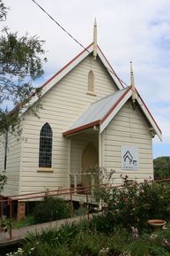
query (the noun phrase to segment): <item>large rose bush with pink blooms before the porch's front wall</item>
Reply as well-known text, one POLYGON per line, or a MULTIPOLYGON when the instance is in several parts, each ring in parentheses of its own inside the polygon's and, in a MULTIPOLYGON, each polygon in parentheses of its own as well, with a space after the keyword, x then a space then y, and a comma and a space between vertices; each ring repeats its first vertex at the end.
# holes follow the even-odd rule
POLYGON ((123 178, 121 188, 102 188, 95 192, 96 199, 107 205, 106 218, 111 225, 124 228, 146 228, 149 219, 170 219, 170 186, 123 178))

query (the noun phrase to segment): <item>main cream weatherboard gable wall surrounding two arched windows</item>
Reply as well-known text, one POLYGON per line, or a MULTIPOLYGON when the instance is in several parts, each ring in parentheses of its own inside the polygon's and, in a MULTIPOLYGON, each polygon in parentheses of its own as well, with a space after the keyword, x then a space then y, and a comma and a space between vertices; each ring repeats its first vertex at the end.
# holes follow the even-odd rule
MULTIPOLYGON (((61 81, 41 97, 40 119, 25 113, 23 121, 20 193, 56 189, 69 185, 69 139, 63 131, 78 119, 92 102, 117 90, 100 60, 88 56, 61 81), (95 75, 95 96, 87 95, 88 73, 95 75), (48 122, 53 130, 53 172, 39 172, 39 143, 41 127, 48 122)), ((77 167, 76 167, 77 168, 77 167)), ((77 171, 77 169, 75 170, 77 171)))

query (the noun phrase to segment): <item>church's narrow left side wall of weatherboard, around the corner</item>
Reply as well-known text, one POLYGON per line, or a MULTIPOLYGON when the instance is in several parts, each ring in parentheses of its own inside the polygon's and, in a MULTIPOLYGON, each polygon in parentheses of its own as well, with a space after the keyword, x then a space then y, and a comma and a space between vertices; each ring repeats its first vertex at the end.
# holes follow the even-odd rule
POLYGON ((7 184, 4 185, 4 196, 18 195, 19 192, 19 169, 21 159, 21 139, 18 140, 18 135, 8 135, 7 148, 7 165, 4 171, 4 143, 0 148, 0 174, 8 177, 7 184))

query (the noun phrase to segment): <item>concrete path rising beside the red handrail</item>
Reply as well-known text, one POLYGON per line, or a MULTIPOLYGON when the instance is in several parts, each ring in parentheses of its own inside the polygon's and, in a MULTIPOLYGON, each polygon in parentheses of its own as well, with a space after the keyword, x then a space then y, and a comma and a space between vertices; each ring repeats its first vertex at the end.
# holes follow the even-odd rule
MULTIPOLYGON (((90 218, 92 218, 92 214, 90 214, 90 218)), ((37 224, 33 226, 28 226, 28 227, 22 227, 18 229, 12 229, 12 239, 10 240, 10 234, 0 232, 0 247, 4 247, 7 245, 11 244, 18 244, 19 242, 23 241, 28 232, 35 233, 39 232, 41 233, 42 229, 49 229, 49 228, 56 228, 59 229, 61 225, 64 223, 78 223, 81 220, 87 219, 87 215, 84 216, 78 216, 74 217, 71 219, 66 219, 66 220, 60 220, 60 221, 51 221, 51 222, 46 222, 42 224, 37 224)))

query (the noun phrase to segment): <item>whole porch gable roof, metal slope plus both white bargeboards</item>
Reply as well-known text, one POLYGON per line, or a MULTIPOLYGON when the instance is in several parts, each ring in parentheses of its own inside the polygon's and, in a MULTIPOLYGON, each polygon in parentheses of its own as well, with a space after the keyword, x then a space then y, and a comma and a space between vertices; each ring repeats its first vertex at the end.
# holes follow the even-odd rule
MULTIPOLYGON (((108 123, 113 120, 116 113, 119 112, 131 96, 132 89, 129 87, 126 89, 120 89, 107 97, 101 98, 90 105, 78 120, 76 120, 67 131, 63 132, 63 136, 70 136, 83 131, 86 128, 92 128, 93 126, 98 125, 100 126, 100 133, 102 133, 103 130, 107 128, 108 123)), ((144 116, 161 140, 161 131, 139 95, 137 97, 137 102, 139 107, 141 107, 141 110, 144 112, 144 116)))

